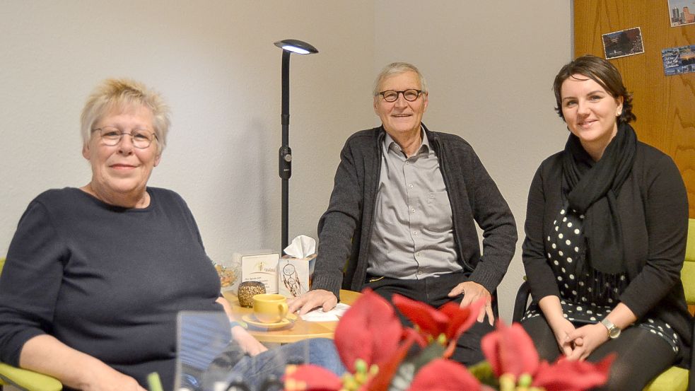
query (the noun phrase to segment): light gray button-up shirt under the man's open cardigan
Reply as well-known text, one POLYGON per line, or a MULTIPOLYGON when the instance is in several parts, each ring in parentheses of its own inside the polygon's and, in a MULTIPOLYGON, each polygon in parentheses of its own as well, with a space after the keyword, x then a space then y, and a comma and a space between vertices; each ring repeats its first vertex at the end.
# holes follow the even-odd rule
POLYGON ((421 135, 410 158, 385 136, 368 274, 422 279, 462 269, 439 161, 425 132, 421 135))

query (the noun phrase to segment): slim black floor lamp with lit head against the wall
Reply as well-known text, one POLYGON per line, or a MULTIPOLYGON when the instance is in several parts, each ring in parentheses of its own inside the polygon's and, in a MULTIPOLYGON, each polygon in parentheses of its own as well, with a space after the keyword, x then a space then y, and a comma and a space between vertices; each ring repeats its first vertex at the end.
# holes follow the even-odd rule
POLYGON ((289 146, 290 133, 290 54, 314 54, 319 51, 300 40, 281 40, 275 46, 282 49, 282 145, 278 151, 278 173, 282 180, 282 212, 281 212, 281 250, 287 247, 289 184, 292 176, 292 150, 289 146))

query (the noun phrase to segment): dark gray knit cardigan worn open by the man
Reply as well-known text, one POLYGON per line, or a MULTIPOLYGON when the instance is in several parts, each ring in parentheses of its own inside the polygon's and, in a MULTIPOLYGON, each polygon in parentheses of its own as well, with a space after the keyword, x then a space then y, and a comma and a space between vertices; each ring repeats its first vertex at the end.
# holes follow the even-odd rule
MULTIPOLYGON (((423 128, 449 195, 458 262, 470 281, 492 293, 514 255, 514 217, 470 144, 453 134, 430 132, 424 124, 423 128), (484 231, 482 256, 475 223, 484 231)), ((357 132, 340 153, 328 210, 319 221, 312 289, 338 296, 341 286, 360 291, 366 281, 385 134, 383 127, 357 132)))

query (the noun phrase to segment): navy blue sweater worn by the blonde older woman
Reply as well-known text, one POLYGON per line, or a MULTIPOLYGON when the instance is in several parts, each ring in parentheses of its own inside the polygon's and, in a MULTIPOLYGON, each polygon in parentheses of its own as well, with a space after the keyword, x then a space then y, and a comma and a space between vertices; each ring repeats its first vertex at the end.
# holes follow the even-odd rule
POLYGON ((80 189, 40 194, 23 214, 0 276, 0 361, 51 334, 146 385, 173 387, 176 315, 221 310, 219 279, 183 199, 149 187, 144 209, 80 189))

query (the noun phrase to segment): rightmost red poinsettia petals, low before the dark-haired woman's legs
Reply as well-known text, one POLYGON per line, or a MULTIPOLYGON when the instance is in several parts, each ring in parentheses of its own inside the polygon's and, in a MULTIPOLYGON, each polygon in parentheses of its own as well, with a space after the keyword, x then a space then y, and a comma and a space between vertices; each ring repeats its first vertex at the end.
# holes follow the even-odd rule
POLYGON ((533 375, 532 385, 544 387, 546 391, 589 390, 606 383, 614 358, 614 354, 609 354, 598 363, 590 363, 561 357, 553 365, 544 361, 533 375))

